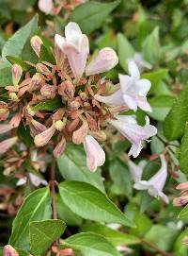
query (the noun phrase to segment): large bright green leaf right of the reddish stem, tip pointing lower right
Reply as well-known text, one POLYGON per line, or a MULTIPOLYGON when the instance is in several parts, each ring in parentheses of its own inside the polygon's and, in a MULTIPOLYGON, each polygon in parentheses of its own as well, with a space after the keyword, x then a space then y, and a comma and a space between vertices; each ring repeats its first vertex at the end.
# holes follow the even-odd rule
POLYGON ((64 181, 59 185, 59 193, 71 211, 83 218, 133 226, 133 223, 107 196, 87 183, 64 181))

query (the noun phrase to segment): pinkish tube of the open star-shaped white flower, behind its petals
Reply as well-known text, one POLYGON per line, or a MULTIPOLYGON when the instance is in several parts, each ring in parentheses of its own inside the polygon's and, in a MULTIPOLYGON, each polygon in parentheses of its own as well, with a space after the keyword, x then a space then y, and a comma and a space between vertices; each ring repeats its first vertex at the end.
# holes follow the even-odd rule
POLYGON ((111 94, 109 96, 102 96, 102 95, 96 94, 95 99, 110 106, 124 105, 124 100, 122 98, 121 90, 118 90, 116 93, 111 94))

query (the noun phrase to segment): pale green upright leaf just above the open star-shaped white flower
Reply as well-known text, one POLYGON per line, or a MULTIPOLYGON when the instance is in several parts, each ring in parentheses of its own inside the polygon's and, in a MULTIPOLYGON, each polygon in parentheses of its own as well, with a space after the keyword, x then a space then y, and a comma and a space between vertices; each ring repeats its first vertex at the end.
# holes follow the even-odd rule
POLYGON ((118 33, 118 60, 121 67, 127 72, 127 60, 133 57, 133 54, 135 53, 135 50, 133 49, 133 46, 129 41, 126 39, 126 37, 118 33))

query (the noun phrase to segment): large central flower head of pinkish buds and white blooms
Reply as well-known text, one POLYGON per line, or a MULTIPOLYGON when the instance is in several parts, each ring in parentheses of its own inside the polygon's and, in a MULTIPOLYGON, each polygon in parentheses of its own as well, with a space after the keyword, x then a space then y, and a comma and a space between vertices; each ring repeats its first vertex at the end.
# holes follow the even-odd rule
MULTIPOLYGON (((40 56, 42 41, 39 36, 31 39, 31 46, 40 56)), ((84 145, 86 164, 95 171, 105 161, 105 154, 99 142, 106 140, 106 129, 118 129, 132 144, 129 155, 137 157, 143 141, 156 134, 157 129, 149 125, 141 127, 135 115, 125 111, 140 108, 151 111, 147 101, 150 88, 148 79, 141 79, 140 72, 133 60, 128 63, 129 74, 119 75, 119 83, 105 79, 100 74, 118 64, 116 52, 103 48, 91 60, 88 38, 75 23, 65 27, 65 37, 55 35, 55 64, 42 61, 35 67, 36 73, 23 72, 18 64, 12 67, 13 85, 8 86, 9 102, 1 102, 0 133, 16 134, 21 120, 30 129, 36 146, 52 146, 55 158, 63 154, 66 143, 84 145), (41 102, 57 100, 60 105, 55 111, 39 111, 41 102), (13 117, 9 120, 9 111, 13 117), (123 114, 120 114, 122 113, 123 114)), ((28 64, 28 62, 27 62, 28 64)), ((0 153, 8 151, 16 144, 13 136, 0 143, 0 153)))

